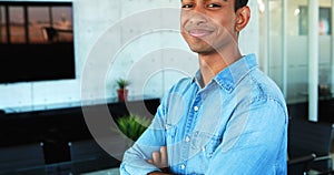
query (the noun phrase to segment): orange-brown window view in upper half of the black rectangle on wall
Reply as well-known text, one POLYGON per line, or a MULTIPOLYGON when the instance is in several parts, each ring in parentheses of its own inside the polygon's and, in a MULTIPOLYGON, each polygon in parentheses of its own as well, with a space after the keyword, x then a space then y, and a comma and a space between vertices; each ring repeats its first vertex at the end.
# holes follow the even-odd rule
POLYGON ((0 6, 0 43, 7 42, 73 42, 71 6, 35 2, 0 6))

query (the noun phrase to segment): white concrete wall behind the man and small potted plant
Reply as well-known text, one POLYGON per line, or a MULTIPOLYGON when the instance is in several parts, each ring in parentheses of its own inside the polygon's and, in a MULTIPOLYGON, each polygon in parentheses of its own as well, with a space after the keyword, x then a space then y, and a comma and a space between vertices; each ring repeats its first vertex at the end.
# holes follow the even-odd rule
MULTIPOLYGON (((21 112, 75 106, 81 100, 100 103, 116 99, 118 78, 131 81, 129 99, 160 97, 198 69, 178 32, 179 0, 72 2, 77 79, 0 84, 0 109, 21 112)), ((258 52, 257 4, 249 6, 252 21, 240 37, 245 54, 258 52)))

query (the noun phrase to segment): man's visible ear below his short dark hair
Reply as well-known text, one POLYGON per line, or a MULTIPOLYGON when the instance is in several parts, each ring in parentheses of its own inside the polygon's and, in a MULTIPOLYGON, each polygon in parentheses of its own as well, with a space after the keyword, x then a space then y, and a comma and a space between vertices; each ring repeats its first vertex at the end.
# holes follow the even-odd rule
POLYGON ((235 30, 238 32, 242 31, 249 22, 249 18, 250 18, 249 7, 245 6, 243 8, 239 8, 236 11, 235 30))

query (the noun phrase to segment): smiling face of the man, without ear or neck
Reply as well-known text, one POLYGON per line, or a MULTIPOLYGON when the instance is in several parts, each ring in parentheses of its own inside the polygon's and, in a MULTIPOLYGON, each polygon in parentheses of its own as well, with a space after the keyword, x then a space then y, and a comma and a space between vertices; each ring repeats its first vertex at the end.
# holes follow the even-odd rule
POLYGON ((222 51, 237 40, 235 0, 183 0, 180 30, 197 53, 222 51))

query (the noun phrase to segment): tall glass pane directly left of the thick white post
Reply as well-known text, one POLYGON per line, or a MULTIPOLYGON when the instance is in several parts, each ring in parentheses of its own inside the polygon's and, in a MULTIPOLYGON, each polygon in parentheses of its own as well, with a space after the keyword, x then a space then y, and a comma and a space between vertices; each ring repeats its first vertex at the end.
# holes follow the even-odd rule
MULTIPOLYGON (((299 33, 308 30, 305 24, 307 0, 287 1, 287 102, 308 101, 308 37, 299 33)), ((307 20, 306 20, 307 22, 307 20)))

